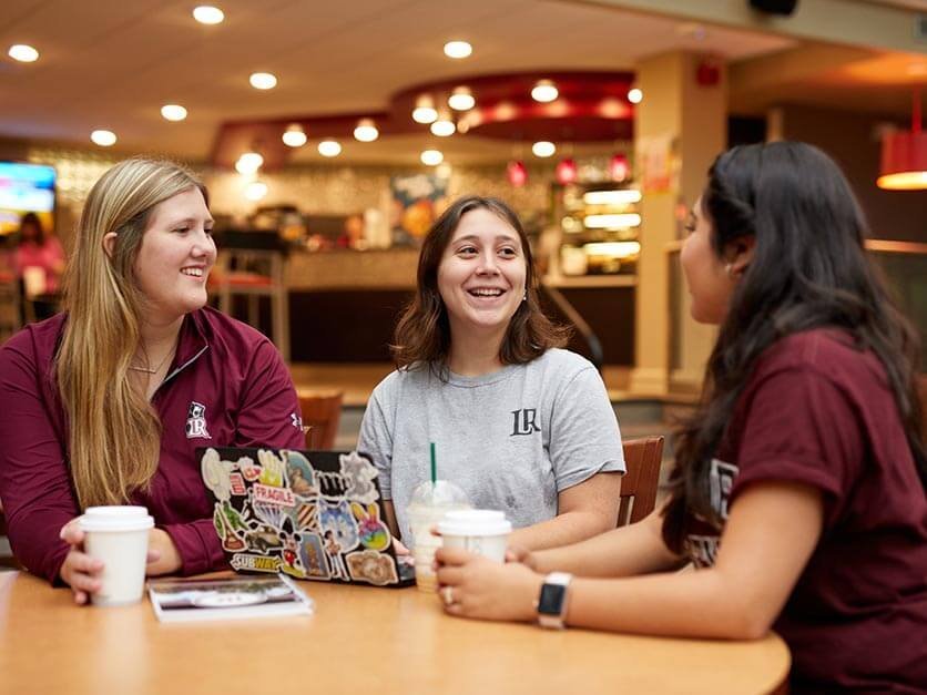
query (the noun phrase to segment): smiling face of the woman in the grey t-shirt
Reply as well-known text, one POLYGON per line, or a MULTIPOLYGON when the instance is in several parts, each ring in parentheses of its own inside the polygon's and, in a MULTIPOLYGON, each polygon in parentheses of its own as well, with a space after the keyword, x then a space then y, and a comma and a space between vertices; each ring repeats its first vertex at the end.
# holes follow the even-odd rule
POLYGON ((524 296, 527 265, 518 232, 483 207, 460 217, 438 266, 451 337, 505 333, 524 296))

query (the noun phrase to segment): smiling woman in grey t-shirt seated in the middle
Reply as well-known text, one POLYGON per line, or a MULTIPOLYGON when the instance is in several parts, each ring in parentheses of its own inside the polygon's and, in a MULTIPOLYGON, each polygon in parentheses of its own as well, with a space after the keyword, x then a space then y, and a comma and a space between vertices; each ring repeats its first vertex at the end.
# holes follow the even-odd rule
POLYGON ((624 471, 602 379, 560 348, 543 315, 528 238, 501 201, 464 197, 435 223, 418 288, 396 328, 398 370, 375 389, 358 449, 378 467, 394 534, 438 473, 481 509, 503 510, 513 542, 551 548, 613 528, 624 471))

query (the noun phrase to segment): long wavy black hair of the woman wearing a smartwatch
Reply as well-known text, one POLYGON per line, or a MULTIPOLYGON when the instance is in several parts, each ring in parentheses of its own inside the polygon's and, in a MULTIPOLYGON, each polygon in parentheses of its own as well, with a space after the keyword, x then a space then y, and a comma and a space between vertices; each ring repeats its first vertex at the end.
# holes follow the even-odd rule
POLYGON ((764 350, 813 328, 839 329, 878 357, 924 483, 918 336, 866 254, 866 221, 839 167, 805 143, 734 147, 709 172, 702 213, 719 258, 744 237, 756 244, 709 357, 701 405, 676 437, 666 545, 682 552, 690 514, 720 525, 707 471, 737 399, 764 350))

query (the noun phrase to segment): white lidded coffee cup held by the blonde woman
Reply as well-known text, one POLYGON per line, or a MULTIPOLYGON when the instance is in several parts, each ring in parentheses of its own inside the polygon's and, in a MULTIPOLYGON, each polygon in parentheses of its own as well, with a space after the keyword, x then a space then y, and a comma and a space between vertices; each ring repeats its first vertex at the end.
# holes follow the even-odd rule
POLYGON ((141 601, 145 587, 149 531, 154 519, 144 507, 88 507, 80 518, 84 552, 103 562, 94 605, 141 601))

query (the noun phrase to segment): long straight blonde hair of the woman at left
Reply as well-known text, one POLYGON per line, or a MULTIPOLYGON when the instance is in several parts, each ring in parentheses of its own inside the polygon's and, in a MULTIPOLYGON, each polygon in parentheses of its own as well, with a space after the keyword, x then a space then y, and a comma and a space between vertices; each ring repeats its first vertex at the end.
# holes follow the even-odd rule
POLYGON ((161 421, 129 381, 145 303, 134 264, 152 209, 194 186, 205 197, 182 166, 132 159, 106 171, 84 204, 64 276, 68 320, 55 365, 81 509, 125 503, 157 470, 161 421), (118 236, 108 254, 110 232, 118 236))

